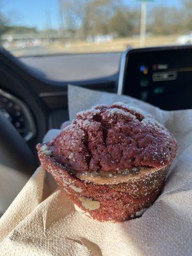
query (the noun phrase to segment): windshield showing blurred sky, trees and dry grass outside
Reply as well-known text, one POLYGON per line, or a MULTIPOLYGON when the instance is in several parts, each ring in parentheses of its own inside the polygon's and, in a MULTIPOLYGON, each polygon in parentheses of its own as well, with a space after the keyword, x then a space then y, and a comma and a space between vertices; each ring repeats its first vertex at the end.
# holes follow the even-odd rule
POLYGON ((0 43, 15 56, 191 44, 191 12, 191 0, 0 0, 0 43))

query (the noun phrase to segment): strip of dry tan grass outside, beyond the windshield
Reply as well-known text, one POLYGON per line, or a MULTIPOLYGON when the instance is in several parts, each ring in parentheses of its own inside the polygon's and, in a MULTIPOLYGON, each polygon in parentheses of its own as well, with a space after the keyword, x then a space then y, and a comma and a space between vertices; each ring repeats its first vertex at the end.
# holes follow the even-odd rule
MULTIPOLYGON (((177 44, 178 35, 172 36, 148 36, 145 47, 177 44)), ((15 56, 35 56, 49 54, 80 54, 90 52, 122 52, 129 47, 140 47, 139 38, 116 38, 111 42, 90 43, 80 40, 65 40, 63 42, 42 43, 40 47, 19 48, 10 47, 9 51, 15 56)))

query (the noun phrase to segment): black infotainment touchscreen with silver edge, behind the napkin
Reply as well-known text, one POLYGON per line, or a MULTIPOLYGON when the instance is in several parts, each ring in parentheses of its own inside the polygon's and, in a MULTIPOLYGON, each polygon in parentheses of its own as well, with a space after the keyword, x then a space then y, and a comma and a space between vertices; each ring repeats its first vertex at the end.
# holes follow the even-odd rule
POLYGON ((192 108, 192 47, 155 47, 125 52, 118 93, 162 109, 192 108))

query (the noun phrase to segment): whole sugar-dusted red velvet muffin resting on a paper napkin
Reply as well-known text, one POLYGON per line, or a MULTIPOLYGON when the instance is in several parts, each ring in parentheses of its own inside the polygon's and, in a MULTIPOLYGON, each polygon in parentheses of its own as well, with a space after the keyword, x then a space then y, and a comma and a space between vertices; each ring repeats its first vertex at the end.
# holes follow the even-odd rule
POLYGON ((71 125, 37 149, 43 168, 77 209, 95 220, 124 221, 156 200, 177 141, 151 116, 115 103, 77 113, 71 125))

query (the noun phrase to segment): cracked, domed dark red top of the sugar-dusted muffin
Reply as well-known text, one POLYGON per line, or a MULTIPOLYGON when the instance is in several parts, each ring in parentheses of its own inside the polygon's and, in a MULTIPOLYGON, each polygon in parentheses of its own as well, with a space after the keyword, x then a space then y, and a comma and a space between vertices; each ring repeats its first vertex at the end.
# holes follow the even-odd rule
POLYGON ((75 172, 160 168, 177 152, 177 141, 163 125, 121 102, 77 113, 47 145, 58 163, 75 172))

